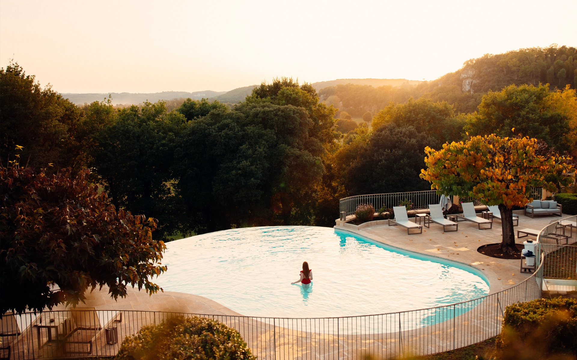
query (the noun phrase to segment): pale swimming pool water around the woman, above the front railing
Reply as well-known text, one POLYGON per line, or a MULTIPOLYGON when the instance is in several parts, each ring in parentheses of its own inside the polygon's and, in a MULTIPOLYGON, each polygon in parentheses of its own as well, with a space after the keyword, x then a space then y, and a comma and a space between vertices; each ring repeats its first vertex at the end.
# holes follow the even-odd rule
POLYGON ((315 226, 266 226, 167 243, 153 281, 247 316, 332 317, 454 304, 489 293, 473 268, 315 226), (299 279, 302 262, 313 272, 299 279))

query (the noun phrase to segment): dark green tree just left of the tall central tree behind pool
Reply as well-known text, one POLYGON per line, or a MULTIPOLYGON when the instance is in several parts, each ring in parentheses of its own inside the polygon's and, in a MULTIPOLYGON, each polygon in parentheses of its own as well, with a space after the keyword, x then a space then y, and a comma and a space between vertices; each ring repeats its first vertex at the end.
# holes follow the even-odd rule
POLYGON ((181 113, 167 113, 162 101, 147 102, 120 109, 117 120, 95 137, 94 166, 104 189, 119 208, 158 219, 155 237, 162 240, 187 231, 171 174, 175 144, 185 127, 181 113))

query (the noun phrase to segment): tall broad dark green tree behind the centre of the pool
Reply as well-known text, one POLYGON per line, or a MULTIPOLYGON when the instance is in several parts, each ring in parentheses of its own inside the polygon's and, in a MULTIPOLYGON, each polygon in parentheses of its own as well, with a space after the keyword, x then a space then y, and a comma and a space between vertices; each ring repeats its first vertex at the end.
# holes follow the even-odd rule
POLYGON ((310 225, 325 152, 311 134, 318 133, 305 108, 267 101, 188 123, 176 151, 175 186, 197 232, 310 225))

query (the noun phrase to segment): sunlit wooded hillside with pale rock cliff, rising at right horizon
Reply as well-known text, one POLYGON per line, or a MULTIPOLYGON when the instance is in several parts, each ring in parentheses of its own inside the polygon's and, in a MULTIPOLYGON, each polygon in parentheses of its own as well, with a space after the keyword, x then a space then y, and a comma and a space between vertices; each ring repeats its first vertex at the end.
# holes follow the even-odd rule
MULTIPOLYGON (((353 117, 365 112, 374 115, 390 101, 404 103, 411 96, 426 97, 433 101, 447 101, 457 112, 477 111, 481 98, 489 90, 500 91, 512 84, 549 84, 550 88, 564 88, 577 82, 577 57, 575 47, 557 46, 548 48, 526 48, 486 54, 470 59, 454 73, 448 73, 433 81, 417 85, 392 84, 374 86, 347 83, 325 86, 319 90, 322 101, 332 104, 339 111, 346 111, 353 117)), ((366 79, 369 80, 369 79, 366 79)), ((345 80, 343 80, 345 81, 345 80)), ((316 84, 331 84, 325 81, 316 84)), ((313 84, 314 85, 314 84, 313 84)))

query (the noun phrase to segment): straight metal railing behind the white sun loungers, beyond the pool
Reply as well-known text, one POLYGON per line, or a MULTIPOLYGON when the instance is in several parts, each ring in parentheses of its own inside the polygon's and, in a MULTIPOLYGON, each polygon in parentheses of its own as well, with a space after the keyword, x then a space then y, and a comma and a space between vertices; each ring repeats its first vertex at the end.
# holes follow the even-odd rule
MULTIPOLYGON (((531 188, 531 196, 534 199, 541 199, 543 188, 531 188)), ((449 196, 453 199, 453 196, 449 196)), ((343 211, 348 215, 352 215, 357 210, 359 204, 372 204, 374 210, 377 211, 381 207, 385 209, 392 209, 393 206, 398 206, 400 202, 409 200, 413 204, 413 209, 429 209, 429 204, 438 204, 441 201, 441 195, 437 195, 436 190, 427 191, 409 191, 409 192, 391 192, 388 194, 370 194, 370 195, 355 195, 339 200, 339 211, 343 211)), ((474 200, 475 205, 481 205, 479 199, 474 200)))

